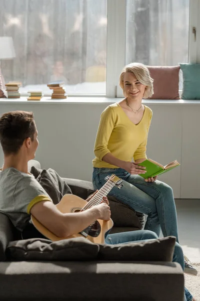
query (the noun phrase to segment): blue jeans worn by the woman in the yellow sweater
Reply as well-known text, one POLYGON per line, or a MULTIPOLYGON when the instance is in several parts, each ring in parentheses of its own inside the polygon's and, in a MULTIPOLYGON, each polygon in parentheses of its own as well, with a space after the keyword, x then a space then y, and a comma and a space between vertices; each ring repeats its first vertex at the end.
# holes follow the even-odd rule
POLYGON ((100 189, 106 182, 104 178, 112 174, 123 180, 123 187, 112 188, 109 195, 135 211, 146 214, 145 230, 153 231, 159 236, 161 229, 163 236, 175 236, 178 242, 177 216, 171 187, 157 180, 147 183, 142 177, 130 175, 121 168, 93 168, 94 188, 100 189))

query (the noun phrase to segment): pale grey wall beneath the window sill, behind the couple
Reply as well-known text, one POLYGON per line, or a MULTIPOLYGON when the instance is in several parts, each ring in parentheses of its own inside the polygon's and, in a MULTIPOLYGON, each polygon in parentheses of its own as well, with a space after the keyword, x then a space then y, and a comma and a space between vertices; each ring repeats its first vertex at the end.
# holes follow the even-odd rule
MULTIPOLYGON (((11 110, 33 111, 39 138, 35 159, 42 168, 51 167, 62 177, 90 181, 99 117, 112 100, 87 98, 86 103, 81 101, 80 98, 71 98, 65 103, 2 100, 0 114, 11 110)), ((181 102, 144 102, 153 110, 147 157, 163 165, 177 159, 181 166, 159 179, 173 188, 175 198, 200 198, 200 101, 181 102)), ((0 149, 0 164, 2 162, 0 149)))

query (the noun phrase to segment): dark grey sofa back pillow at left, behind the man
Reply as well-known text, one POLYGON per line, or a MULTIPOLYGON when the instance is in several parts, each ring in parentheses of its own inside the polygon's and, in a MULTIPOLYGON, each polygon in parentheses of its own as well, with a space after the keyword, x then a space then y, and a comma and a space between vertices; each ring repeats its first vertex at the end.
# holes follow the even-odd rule
POLYGON ((30 238, 11 241, 6 248, 8 259, 15 260, 92 260, 97 258, 99 246, 78 237, 50 241, 30 238))

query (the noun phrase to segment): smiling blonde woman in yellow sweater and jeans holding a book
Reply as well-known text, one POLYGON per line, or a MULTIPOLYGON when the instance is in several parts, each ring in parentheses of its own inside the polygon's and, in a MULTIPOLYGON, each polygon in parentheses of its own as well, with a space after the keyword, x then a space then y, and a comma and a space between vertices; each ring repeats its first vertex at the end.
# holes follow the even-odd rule
MULTIPOLYGON (((119 78, 124 99, 109 105, 101 114, 96 135, 92 182, 96 189, 105 184, 105 176, 115 174, 123 187, 113 188, 110 195, 147 215, 145 230, 158 236, 173 235, 178 242, 176 208, 173 191, 156 177, 144 180, 147 135, 152 111, 142 98, 153 94, 153 80, 147 67, 140 63, 126 65, 119 78)), ((185 272, 197 274, 185 260, 185 272)))

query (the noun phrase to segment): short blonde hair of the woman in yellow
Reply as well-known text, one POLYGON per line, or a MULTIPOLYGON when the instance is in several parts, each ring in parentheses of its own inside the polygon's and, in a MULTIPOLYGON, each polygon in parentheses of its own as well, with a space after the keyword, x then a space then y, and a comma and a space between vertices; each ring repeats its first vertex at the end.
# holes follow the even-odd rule
POLYGON ((144 86, 147 86, 145 88, 143 98, 149 98, 153 94, 153 79, 150 77, 150 73, 148 71, 148 68, 141 64, 141 63, 130 63, 123 67, 120 77, 119 77, 119 86, 123 90, 123 95, 126 97, 124 92, 124 74, 126 72, 131 72, 134 74, 136 79, 144 86))

